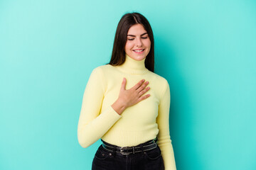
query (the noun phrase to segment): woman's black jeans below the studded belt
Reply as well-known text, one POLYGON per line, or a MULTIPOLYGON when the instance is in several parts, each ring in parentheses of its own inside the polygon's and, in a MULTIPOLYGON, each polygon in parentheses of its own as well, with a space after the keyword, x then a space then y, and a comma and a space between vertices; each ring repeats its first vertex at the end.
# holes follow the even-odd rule
MULTIPOLYGON (((111 145, 102 140, 106 145, 111 145)), ((144 142, 141 145, 146 145, 144 142)), ((139 145, 138 145, 139 146, 139 145)), ((161 150, 157 145, 156 148, 137 152, 135 154, 123 155, 118 152, 110 152, 102 145, 97 149, 92 161, 92 170, 164 170, 164 160, 161 156, 161 150)))

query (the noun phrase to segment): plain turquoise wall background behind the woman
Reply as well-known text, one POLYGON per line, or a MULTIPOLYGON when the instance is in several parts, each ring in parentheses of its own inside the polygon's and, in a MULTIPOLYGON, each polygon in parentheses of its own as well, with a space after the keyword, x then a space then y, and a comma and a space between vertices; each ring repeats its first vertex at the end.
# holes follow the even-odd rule
POLYGON ((0 1, 0 169, 91 169, 82 95, 127 12, 154 31, 177 169, 256 169, 252 0, 0 1))

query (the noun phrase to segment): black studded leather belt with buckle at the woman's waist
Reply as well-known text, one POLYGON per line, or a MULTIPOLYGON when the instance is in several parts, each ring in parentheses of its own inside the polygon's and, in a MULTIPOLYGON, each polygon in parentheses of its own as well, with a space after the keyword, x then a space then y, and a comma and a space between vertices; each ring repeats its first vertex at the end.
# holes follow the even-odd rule
POLYGON ((157 145, 156 145, 156 142, 152 140, 146 145, 137 145, 134 147, 112 147, 112 146, 106 145, 105 143, 102 143, 102 147, 104 147, 110 152, 117 152, 120 154, 135 154, 138 152, 142 152, 142 150, 147 151, 147 150, 154 149, 157 147, 157 145))

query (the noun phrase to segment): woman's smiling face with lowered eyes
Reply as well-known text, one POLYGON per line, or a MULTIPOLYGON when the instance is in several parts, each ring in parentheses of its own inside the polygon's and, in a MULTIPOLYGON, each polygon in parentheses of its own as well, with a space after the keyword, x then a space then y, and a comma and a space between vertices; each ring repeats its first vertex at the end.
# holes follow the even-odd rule
POLYGON ((143 60, 149 54, 151 41, 142 24, 129 28, 124 51, 134 60, 143 60))

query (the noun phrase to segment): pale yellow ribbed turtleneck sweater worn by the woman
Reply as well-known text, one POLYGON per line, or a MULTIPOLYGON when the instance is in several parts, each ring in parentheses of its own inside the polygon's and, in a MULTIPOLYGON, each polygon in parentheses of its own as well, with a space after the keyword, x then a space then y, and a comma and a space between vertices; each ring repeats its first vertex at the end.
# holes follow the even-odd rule
POLYGON ((137 61, 126 55, 122 65, 106 64, 92 70, 82 98, 78 142, 82 147, 89 147, 102 138, 112 145, 128 147, 153 140, 157 135, 165 169, 174 170, 176 164, 169 135, 169 83, 146 69, 145 60, 137 61), (124 77, 126 89, 142 79, 149 81, 150 89, 144 95, 150 96, 119 115, 111 105, 119 96, 124 77))

